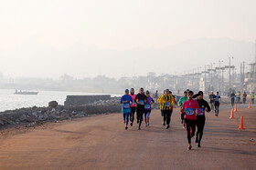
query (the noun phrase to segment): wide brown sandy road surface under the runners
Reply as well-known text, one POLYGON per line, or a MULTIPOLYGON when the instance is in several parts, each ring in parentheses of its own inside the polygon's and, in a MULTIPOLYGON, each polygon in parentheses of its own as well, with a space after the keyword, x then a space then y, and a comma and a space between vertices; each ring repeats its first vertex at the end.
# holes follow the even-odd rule
POLYGON ((0 135, 0 169, 255 169, 256 107, 239 107, 233 120, 227 106, 222 108, 218 117, 207 115, 202 147, 193 138, 191 151, 177 109, 168 130, 159 110, 141 131, 137 125, 125 131, 122 114, 6 129, 0 135), (240 115, 246 130, 238 129, 240 115))

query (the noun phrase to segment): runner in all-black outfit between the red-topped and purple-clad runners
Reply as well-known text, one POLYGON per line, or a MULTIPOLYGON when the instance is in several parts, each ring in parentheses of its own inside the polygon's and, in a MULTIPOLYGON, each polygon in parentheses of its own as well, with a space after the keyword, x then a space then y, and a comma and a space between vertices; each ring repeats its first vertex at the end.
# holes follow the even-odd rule
POLYGON ((144 118, 144 104, 146 103, 146 95, 144 95, 144 88, 140 88, 140 93, 135 96, 135 101, 137 103, 137 116, 139 118, 138 130, 141 130, 141 125, 144 118))

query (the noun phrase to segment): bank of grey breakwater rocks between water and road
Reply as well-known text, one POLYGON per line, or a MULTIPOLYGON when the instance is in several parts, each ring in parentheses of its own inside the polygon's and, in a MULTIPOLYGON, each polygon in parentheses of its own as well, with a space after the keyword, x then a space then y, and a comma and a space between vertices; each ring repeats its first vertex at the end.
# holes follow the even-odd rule
POLYGON ((48 107, 29 107, 10 110, 0 113, 0 129, 15 125, 33 127, 45 122, 59 122, 61 120, 72 120, 90 115, 101 115, 119 113, 122 105, 120 98, 113 97, 110 100, 99 100, 87 105, 56 105, 57 102, 49 102, 48 107))

